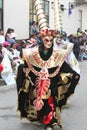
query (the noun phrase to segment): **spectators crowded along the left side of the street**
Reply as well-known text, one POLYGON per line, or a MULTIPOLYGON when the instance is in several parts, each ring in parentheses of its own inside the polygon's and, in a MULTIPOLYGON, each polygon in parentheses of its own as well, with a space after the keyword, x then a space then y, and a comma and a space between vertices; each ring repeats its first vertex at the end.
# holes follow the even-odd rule
POLYGON ((31 35, 28 39, 17 40, 13 28, 8 28, 4 34, 0 29, 0 86, 14 84, 18 66, 23 63, 22 50, 40 44, 37 23, 32 22, 31 35), (7 57, 7 58, 5 58, 7 57), (7 60, 8 59, 8 60, 7 60))

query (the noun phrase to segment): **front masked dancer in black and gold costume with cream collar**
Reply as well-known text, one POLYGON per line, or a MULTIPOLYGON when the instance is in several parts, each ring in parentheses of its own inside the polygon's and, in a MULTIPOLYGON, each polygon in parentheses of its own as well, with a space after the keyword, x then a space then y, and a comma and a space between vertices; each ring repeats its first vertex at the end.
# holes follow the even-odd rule
MULTIPOLYGON (((40 1, 34 1, 39 13, 40 1)), ((40 10, 43 12, 41 4, 40 10)), ((39 16, 45 17, 38 14, 38 20, 39 16)), ((20 118, 26 117, 45 124, 45 130, 53 130, 56 124, 62 127, 61 110, 74 93, 79 78, 75 78, 78 74, 65 62, 68 50, 53 48, 57 32, 49 30, 47 22, 40 22, 41 45, 24 49, 25 63, 18 67, 18 110, 20 118)))

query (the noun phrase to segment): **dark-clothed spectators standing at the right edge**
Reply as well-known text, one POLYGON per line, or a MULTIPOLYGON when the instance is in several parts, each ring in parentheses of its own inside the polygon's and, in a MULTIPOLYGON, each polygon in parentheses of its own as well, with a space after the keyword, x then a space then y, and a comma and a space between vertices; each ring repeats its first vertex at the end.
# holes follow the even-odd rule
POLYGON ((81 31, 78 28, 76 34, 71 34, 68 38, 70 42, 74 43, 73 52, 77 60, 87 59, 87 30, 81 31))

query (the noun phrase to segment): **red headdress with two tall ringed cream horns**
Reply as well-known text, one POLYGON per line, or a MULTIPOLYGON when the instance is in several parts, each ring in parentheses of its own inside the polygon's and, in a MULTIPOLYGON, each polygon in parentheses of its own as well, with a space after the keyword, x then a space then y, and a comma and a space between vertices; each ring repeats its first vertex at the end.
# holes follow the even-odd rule
POLYGON ((52 36, 53 38, 56 37, 59 32, 57 31, 58 29, 62 30, 62 20, 61 20, 61 10, 60 10, 60 4, 59 0, 54 0, 54 29, 50 29, 48 25, 48 20, 45 15, 44 9, 43 9, 43 4, 41 0, 34 0, 34 5, 35 5, 35 10, 36 10, 36 16, 37 16, 37 21, 38 21, 38 26, 40 30, 40 36, 52 36))

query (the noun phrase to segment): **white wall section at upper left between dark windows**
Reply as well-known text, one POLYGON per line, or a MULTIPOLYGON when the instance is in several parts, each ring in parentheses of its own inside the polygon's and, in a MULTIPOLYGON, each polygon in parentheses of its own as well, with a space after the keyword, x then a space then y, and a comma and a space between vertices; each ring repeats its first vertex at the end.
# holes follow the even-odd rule
POLYGON ((4 32, 11 27, 17 39, 29 37, 29 3, 28 0, 4 0, 4 32))

